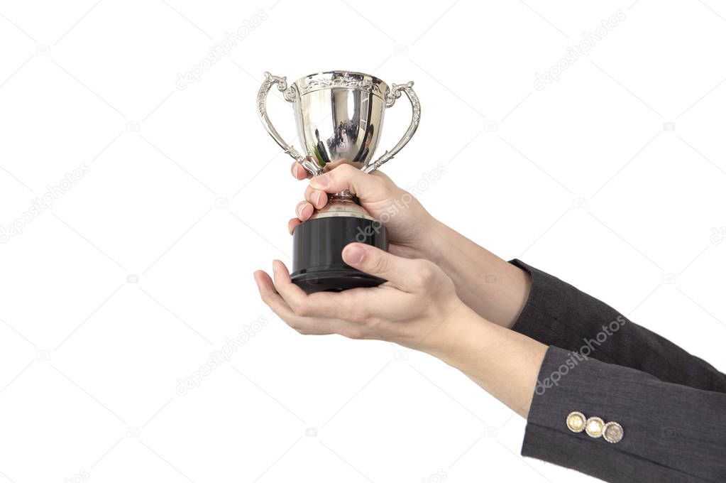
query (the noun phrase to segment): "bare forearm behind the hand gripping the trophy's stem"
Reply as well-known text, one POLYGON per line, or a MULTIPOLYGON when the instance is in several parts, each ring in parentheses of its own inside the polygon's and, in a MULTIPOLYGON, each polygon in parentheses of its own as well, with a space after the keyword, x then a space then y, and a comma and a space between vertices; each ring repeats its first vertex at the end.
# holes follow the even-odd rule
POLYGON ((432 240, 425 256, 449 275, 457 296, 474 312, 510 328, 529 295, 529 274, 441 222, 431 222, 430 228, 432 240))

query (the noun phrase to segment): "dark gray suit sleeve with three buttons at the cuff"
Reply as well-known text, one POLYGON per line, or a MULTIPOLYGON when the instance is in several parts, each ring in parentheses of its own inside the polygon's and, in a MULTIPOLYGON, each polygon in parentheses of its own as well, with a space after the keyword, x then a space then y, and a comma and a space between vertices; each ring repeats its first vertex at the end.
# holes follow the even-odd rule
POLYGON ((550 346, 522 455, 608 482, 726 482, 726 394, 550 346), (619 442, 568 429, 569 413, 616 421, 619 442))

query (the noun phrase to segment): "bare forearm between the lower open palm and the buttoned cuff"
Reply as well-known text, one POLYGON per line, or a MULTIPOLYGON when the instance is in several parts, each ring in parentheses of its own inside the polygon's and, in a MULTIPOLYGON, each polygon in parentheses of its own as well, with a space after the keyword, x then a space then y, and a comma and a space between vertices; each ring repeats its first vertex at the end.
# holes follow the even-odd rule
POLYGON ((437 344, 428 352, 526 418, 547 346, 462 305, 441 325, 437 344))

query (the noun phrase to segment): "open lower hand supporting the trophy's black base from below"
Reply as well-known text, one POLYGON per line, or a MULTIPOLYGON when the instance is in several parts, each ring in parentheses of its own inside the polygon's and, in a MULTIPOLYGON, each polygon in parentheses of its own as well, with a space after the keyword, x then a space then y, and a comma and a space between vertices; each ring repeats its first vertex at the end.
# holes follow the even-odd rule
POLYGON ((274 282, 261 270, 254 277, 265 303, 299 333, 385 340, 433 354, 451 343, 449 334, 460 335, 452 327, 457 320, 465 320, 457 317, 460 312, 470 309, 435 264, 362 243, 346 245, 343 260, 388 281, 374 288, 308 295, 292 283, 279 260, 272 264, 274 282))

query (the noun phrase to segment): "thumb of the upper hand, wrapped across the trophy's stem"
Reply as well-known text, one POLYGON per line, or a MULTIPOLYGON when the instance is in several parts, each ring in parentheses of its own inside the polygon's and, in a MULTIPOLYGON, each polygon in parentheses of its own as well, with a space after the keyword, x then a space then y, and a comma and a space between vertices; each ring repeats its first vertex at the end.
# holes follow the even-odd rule
POLYGON ((313 176, 310 187, 328 193, 350 190, 363 202, 386 198, 391 192, 387 176, 371 176, 348 164, 340 165, 320 176, 313 176))

